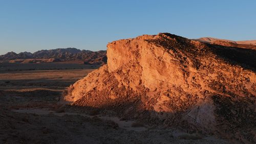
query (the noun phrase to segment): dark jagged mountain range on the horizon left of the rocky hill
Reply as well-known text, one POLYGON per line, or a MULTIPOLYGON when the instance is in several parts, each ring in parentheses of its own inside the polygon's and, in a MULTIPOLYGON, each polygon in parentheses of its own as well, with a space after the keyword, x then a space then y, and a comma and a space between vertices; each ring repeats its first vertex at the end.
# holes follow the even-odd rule
POLYGON ((0 56, 0 61, 9 62, 65 62, 65 61, 83 61, 85 64, 102 64, 106 63, 106 51, 89 51, 78 50, 76 48, 41 50, 35 53, 9 52, 0 56))

